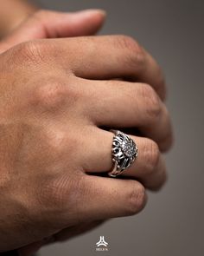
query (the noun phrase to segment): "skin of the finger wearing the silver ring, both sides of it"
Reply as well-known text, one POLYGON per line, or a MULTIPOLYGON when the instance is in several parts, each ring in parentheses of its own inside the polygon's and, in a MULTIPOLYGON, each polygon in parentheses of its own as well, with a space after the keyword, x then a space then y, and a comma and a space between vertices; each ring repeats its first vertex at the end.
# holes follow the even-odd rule
MULTIPOLYGON (((83 167, 86 173, 108 173, 112 169, 112 132, 100 128, 89 129, 83 154, 83 167)), ((166 167, 156 142, 147 138, 132 136, 137 143, 137 160, 124 171, 123 176, 141 181, 144 187, 156 190, 166 181, 166 167)))

